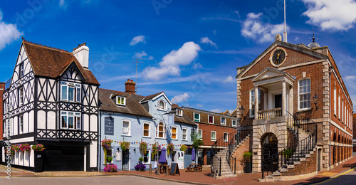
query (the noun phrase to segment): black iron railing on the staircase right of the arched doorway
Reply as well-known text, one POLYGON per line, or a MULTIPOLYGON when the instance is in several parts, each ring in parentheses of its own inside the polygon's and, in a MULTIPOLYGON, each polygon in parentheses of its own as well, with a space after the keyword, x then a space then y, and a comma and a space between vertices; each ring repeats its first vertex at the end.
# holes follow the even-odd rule
POLYGON ((315 149, 318 139, 318 126, 306 117, 300 115, 291 115, 287 112, 287 129, 294 133, 294 136, 288 142, 287 146, 277 154, 262 160, 262 179, 266 175, 273 174, 278 169, 288 169, 288 165, 300 162, 306 154, 310 154, 315 149), (299 141, 299 129, 303 129, 308 136, 299 141), (265 171, 267 169, 267 171, 265 171))

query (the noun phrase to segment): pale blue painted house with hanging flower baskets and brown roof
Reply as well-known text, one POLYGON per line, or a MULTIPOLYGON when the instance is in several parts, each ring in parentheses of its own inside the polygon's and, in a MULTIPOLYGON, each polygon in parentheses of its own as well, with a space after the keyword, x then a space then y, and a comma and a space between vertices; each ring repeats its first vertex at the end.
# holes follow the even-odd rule
MULTIPOLYGON (((100 89, 99 103, 99 140, 114 141, 108 157, 112 157, 112 163, 119 170, 135 170, 140 157, 144 158, 145 164, 152 164, 153 169, 160 152, 153 155, 152 144, 166 149, 167 144, 174 144, 174 152, 166 155, 168 164, 177 162, 176 152, 180 151, 182 144, 192 146, 191 133, 197 130, 197 125, 163 92, 150 96, 136 95, 135 82, 127 80, 125 92, 100 89), (130 142, 130 149, 122 151, 121 142, 130 142), (146 154, 141 154, 140 142, 147 143, 146 154)), ((105 159, 101 146, 98 155, 98 170, 103 171, 105 159)), ((187 154, 179 167, 187 167, 192 163, 190 159, 191 155, 187 154)))

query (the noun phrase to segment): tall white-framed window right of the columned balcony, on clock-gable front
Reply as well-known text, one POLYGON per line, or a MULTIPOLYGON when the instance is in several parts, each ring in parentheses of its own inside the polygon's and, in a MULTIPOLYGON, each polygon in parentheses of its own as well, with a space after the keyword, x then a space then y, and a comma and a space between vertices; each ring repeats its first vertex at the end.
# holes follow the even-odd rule
POLYGON ((310 108, 310 79, 305 78, 298 82, 298 110, 308 110, 310 108))

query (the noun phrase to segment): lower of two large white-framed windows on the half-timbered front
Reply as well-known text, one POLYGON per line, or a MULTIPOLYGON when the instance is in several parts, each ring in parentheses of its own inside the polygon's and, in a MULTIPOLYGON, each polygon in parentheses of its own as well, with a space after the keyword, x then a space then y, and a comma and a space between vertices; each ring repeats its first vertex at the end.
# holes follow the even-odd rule
POLYGON ((80 129, 80 112, 61 111, 61 129, 80 129))

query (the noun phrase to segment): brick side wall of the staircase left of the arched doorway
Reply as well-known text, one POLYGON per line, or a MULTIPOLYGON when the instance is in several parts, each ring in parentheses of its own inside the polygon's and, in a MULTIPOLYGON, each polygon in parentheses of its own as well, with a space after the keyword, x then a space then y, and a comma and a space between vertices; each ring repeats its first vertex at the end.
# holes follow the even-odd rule
MULTIPOLYGON (((234 154, 232 154, 233 157, 236 157, 236 172, 244 171, 245 164, 243 155, 245 152, 252 152, 252 135, 234 151, 234 154)), ((234 170, 233 168, 234 166, 231 166, 232 170, 234 170)))

